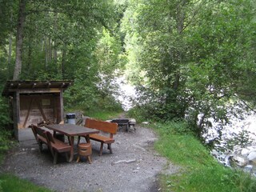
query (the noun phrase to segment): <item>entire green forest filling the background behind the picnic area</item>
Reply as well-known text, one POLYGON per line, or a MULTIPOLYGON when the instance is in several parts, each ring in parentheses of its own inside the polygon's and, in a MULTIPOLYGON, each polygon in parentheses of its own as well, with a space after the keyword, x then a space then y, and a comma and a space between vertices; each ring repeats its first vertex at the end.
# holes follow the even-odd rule
MULTIPOLYGON (((66 107, 120 110, 117 78, 136 87, 134 114, 185 120, 198 138, 254 111, 253 0, 0 1, 0 88, 7 80, 74 80, 66 107)), ((8 122, 0 98, 0 124, 8 122)))

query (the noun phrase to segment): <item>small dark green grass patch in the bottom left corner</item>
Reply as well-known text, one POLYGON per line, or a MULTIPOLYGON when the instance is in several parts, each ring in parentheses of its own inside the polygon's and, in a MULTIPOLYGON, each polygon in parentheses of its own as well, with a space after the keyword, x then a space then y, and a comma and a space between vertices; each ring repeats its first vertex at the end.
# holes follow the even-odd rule
POLYGON ((0 175, 1 192, 50 192, 42 186, 35 186, 32 182, 15 177, 13 174, 0 175))

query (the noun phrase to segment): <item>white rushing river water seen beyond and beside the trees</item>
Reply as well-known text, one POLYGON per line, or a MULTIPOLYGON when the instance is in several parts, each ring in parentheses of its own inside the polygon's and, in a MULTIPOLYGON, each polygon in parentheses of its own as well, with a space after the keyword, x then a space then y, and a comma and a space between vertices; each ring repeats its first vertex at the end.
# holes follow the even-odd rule
MULTIPOLYGON (((134 86, 130 86, 125 78, 117 79, 118 85, 120 86, 121 94, 118 96, 118 101, 122 103, 124 110, 130 110, 133 107, 133 103, 130 98, 136 98, 134 86)), ((225 141, 234 138, 234 136, 241 135, 242 132, 248 133, 249 138, 244 138, 246 141, 250 140, 250 147, 253 151, 256 152, 256 114, 245 115, 244 118, 231 118, 230 124, 227 126, 223 126, 222 129, 222 141, 219 146, 225 147, 225 141)), ((213 128, 209 128, 208 138, 216 138, 218 136, 218 124, 213 123, 213 128)), ((234 149, 238 149, 239 146, 234 146, 234 149)), ((241 152, 240 146, 240 152, 241 152)), ((243 146, 246 148, 246 146, 243 146)), ((230 166, 230 156, 239 155, 236 154, 237 151, 227 150, 225 152, 213 150, 212 154, 215 158, 218 159, 219 162, 224 164, 225 166, 230 166)), ((247 162, 246 166, 242 166, 244 170, 250 171, 252 174, 256 175, 256 166, 252 165, 250 162, 247 162)))

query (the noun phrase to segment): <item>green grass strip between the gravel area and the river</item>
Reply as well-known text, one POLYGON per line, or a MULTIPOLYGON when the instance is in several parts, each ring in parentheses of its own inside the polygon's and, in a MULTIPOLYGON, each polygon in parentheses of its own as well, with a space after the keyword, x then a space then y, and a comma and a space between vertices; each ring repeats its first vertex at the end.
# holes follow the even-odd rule
POLYGON ((160 176, 162 191, 226 192, 256 191, 256 180, 241 170, 231 170, 218 163, 183 122, 157 124, 159 135, 154 147, 170 162, 182 166, 179 174, 160 176), (179 133, 178 126, 182 130, 179 133))

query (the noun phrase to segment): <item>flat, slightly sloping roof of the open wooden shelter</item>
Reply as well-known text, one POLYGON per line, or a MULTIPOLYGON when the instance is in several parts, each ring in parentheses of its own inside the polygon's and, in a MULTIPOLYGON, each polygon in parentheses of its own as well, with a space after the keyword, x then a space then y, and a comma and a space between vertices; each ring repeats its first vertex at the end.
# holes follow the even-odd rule
POLYGON ((7 81, 2 96, 9 96, 18 90, 50 90, 58 88, 59 90, 66 90, 73 84, 73 81, 7 81))

